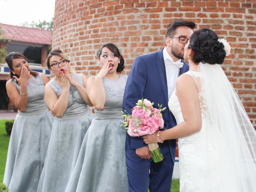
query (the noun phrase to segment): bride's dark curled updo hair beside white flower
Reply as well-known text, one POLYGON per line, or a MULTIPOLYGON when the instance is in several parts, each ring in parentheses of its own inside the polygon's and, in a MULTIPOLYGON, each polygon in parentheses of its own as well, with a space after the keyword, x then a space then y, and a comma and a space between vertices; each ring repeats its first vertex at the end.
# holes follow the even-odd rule
POLYGON ((224 45, 218 41, 219 36, 210 29, 199 29, 190 37, 191 48, 196 63, 222 64, 226 56, 224 45))

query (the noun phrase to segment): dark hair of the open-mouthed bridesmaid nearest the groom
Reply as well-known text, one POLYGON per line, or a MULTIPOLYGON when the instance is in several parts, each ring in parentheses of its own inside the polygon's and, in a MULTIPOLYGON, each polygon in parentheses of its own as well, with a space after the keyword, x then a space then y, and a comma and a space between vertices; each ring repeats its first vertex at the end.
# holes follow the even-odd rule
POLYGON ((107 43, 102 45, 99 50, 97 51, 97 57, 98 59, 100 59, 100 55, 102 54, 102 49, 104 47, 107 47, 111 52, 113 52, 118 58, 120 58, 120 63, 118 64, 117 68, 116 68, 116 72, 122 72, 124 70, 124 58, 123 56, 120 54, 119 49, 117 48, 116 45, 112 44, 112 43, 107 43))

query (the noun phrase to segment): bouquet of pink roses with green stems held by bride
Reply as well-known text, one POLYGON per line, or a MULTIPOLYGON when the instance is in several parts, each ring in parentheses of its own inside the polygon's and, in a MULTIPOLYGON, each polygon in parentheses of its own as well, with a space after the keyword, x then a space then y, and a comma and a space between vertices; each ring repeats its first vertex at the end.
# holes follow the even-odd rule
MULTIPOLYGON (((124 123, 121 126, 126 127, 127 132, 132 137, 151 135, 164 127, 164 120, 161 114, 162 105, 158 104, 158 109, 153 107, 154 102, 142 98, 138 100, 136 106, 132 108, 132 115, 127 111, 122 111, 124 123)), ((148 144, 154 162, 160 162, 164 159, 157 143, 148 144)))

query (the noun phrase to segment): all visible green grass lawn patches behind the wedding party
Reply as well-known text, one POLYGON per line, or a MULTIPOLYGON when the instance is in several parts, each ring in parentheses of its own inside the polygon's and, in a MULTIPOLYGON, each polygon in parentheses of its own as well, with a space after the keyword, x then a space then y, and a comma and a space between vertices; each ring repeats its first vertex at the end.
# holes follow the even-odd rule
MULTIPOLYGON (((0 120, 0 183, 2 183, 4 179, 4 169, 6 164, 8 144, 10 140, 10 136, 6 134, 5 125, 4 125, 5 121, 6 120, 0 120)), ((171 192, 179 192, 179 191, 180 191, 180 182, 178 179, 173 179, 171 192)))

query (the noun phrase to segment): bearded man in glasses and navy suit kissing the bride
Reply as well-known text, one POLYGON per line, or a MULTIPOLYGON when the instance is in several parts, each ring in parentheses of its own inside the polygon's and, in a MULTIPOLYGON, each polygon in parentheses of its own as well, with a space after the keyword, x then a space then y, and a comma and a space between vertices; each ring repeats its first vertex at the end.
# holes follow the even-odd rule
MULTIPOLYGON (((184 46, 193 33, 194 22, 175 20, 166 30, 166 47, 135 58, 124 91, 123 108, 131 109, 142 98, 158 103, 166 110, 162 112, 166 129, 176 126, 176 120, 168 108, 168 100, 175 89, 176 79, 188 71, 184 62, 184 46)), ((154 163, 148 145, 142 137, 126 134, 126 164, 130 192, 146 192, 148 181, 150 192, 170 192, 175 158, 176 140, 158 143, 164 156, 162 162, 154 163)))

